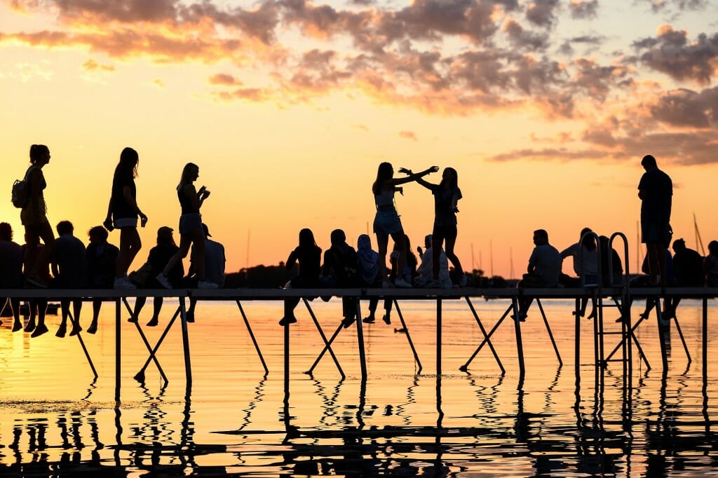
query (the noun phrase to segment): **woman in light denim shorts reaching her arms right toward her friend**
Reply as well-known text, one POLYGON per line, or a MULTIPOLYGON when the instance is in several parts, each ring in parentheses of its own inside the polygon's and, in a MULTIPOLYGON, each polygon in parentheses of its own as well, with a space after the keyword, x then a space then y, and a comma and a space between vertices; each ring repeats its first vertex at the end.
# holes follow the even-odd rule
MULTIPOLYGON (((402 170, 404 169, 400 169, 400 171, 402 170)), ((376 172, 376 181, 372 185, 371 190, 374 193, 374 202, 376 203, 374 233, 376 233, 376 243, 379 248, 379 276, 383 281, 383 287, 389 286, 386 280, 386 248, 388 246, 389 236, 393 239, 394 244, 398 246, 399 256, 396 264, 398 271, 404 271, 404 266, 406 266, 406 236, 404 235, 404 228, 401 227, 401 220, 399 220, 396 207, 394 206, 394 192, 398 191, 403 194, 403 189, 397 187, 399 184, 416 181, 426 176, 426 174, 437 171, 439 171, 439 167, 432 166, 416 174, 409 173, 406 177, 395 178, 391 163, 385 161, 379 164, 379 168, 376 172)), ((397 276, 394 285, 397 287, 411 287, 410 283, 404 281, 401 274, 397 276)))

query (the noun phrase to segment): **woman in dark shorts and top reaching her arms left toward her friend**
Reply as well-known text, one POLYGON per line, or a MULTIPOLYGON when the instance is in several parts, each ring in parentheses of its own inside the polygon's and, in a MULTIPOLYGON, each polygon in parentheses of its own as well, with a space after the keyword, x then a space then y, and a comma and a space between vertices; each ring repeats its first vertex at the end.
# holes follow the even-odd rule
MULTIPOLYGON (((399 169, 399 172, 411 174, 409 169, 399 169)), ((426 182, 421 177, 416 182, 426 187, 434 195, 434 230, 432 230, 432 271, 434 273, 434 281, 437 283, 433 286, 440 286, 439 274, 441 273, 441 265, 439 256, 441 256, 442 245, 445 245, 445 253, 449 261, 454 265, 460 276, 459 285, 465 286, 467 276, 461 267, 459 258, 454 253, 454 245, 457 238, 457 220, 456 213, 459 212, 457 203, 462 198, 461 189, 459 189, 459 176, 454 168, 444 168, 442 180, 439 184, 426 182)))

